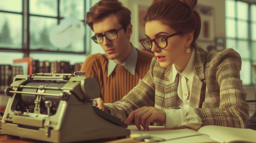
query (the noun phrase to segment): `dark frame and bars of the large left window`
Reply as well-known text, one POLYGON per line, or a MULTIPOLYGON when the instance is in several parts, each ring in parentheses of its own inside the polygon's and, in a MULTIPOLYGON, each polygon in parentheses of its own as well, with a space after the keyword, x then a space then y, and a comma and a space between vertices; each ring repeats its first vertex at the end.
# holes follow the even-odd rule
MULTIPOLYGON (((13 14, 21 14, 22 15, 22 42, 21 49, 11 49, 7 47, 0 47, 0 52, 21 52, 24 53, 24 57, 29 56, 30 53, 61 53, 61 54, 77 54, 77 55, 89 55, 90 54, 90 27, 85 25, 85 36, 84 36, 84 52, 71 52, 71 51, 47 51, 47 50, 32 50, 30 49, 30 33, 29 33, 29 18, 30 16, 36 17, 45 17, 45 18, 54 18, 58 20, 58 25, 60 24, 60 20, 64 19, 64 17, 60 17, 60 0, 57 0, 57 17, 52 16, 44 16, 37 14, 29 13, 29 1, 30 0, 22 0, 22 12, 12 12, 12 11, 2 11, 2 13, 13 13, 13 14), (26 30, 25 30, 26 29, 26 30)), ((80 20, 83 23, 85 22, 85 14, 89 11, 91 7, 91 1, 84 0, 84 20, 80 20)))

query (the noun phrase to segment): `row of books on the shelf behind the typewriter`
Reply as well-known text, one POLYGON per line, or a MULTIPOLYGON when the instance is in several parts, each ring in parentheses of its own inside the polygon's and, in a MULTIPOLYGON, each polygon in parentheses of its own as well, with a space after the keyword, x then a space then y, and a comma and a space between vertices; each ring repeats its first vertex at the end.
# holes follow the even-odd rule
POLYGON ((32 60, 31 57, 24 57, 13 61, 11 65, 0 65, 0 92, 10 87, 16 75, 33 75, 34 73, 74 73, 80 71, 82 63, 70 65, 64 61, 39 61, 32 60))

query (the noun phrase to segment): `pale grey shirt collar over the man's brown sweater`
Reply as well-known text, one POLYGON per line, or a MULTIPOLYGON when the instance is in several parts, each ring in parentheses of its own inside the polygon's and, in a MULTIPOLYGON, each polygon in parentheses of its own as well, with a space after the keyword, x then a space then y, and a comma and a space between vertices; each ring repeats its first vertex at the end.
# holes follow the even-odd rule
MULTIPOLYGON (((132 45, 132 50, 127 59, 122 64, 129 72, 134 75, 135 67, 137 63, 138 58, 138 51, 137 49, 132 45)), ((114 60, 108 59, 108 76, 115 70, 117 63, 114 60)))

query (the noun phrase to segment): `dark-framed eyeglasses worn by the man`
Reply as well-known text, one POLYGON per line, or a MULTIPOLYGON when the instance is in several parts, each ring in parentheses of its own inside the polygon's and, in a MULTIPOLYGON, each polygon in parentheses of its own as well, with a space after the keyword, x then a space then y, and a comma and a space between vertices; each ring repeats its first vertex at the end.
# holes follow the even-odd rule
POLYGON ((113 31, 108 31, 106 32, 104 35, 103 34, 97 34, 95 36, 92 37, 92 40, 97 43, 97 44, 101 44, 103 42, 103 37, 105 36, 108 40, 112 41, 112 40, 116 40, 118 35, 117 32, 120 31, 123 27, 121 27, 118 30, 113 30, 113 31))

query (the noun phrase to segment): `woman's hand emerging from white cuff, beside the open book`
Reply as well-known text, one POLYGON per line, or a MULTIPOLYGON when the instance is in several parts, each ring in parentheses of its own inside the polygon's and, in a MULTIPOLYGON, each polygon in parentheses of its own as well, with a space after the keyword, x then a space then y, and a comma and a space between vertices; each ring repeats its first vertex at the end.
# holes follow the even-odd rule
POLYGON ((166 114, 164 110, 156 109, 155 107, 144 106, 140 109, 132 111, 129 117, 125 120, 125 124, 129 124, 132 119, 135 118, 135 125, 140 130, 140 125, 145 129, 149 130, 149 124, 154 123, 165 123, 166 114))

